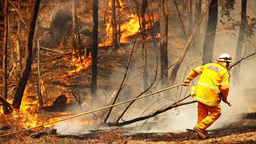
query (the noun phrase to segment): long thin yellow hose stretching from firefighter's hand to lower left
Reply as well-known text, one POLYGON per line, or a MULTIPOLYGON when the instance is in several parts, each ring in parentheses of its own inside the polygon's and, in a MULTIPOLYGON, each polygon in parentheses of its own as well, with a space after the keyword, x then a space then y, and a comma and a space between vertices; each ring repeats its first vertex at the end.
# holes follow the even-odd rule
POLYGON ((12 132, 12 133, 7 133, 7 134, 4 134, 4 135, 0 135, 0 137, 6 136, 6 135, 15 134, 15 133, 20 133, 20 132, 22 132, 22 131, 27 131, 27 130, 34 129, 34 128, 37 128, 37 127, 46 126, 46 125, 53 124, 53 123, 56 123, 56 122, 60 122, 60 121, 63 121, 63 120, 67 120, 67 119, 70 119, 70 118, 74 118, 74 117, 82 116, 82 115, 85 115, 85 114, 93 113, 93 112, 95 112, 95 111, 100 111, 100 110, 102 110, 102 109, 107 109, 107 108, 109 108, 109 107, 114 107, 114 106, 117 106, 117 105, 121 105, 121 104, 123 104, 123 103, 132 102, 132 101, 134 101, 134 100, 138 100, 138 99, 141 99, 141 98, 145 98, 145 97, 147 97, 147 96, 151 96, 151 95, 153 95, 153 94, 157 94, 157 93, 159 93, 159 92, 162 92, 162 91, 165 91, 165 90, 168 90, 168 89, 173 89, 174 87, 178 87, 178 86, 180 86, 180 85, 183 85, 183 83, 178 84, 178 85, 174 85, 173 87, 169 87, 169 88, 166 88, 166 89, 159 90, 159 91, 157 91, 157 92, 153 92, 153 93, 151 93, 151 94, 147 94, 147 95, 145 95, 145 96, 141 96, 141 97, 138 97, 138 98, 134 98, 134 99, 131 99, 131 100, 127 100, 127 101, 124 101, 124 102, 121 102, 121 103, 116 103, 116 104, 114 104, 114 105, 109 105, 109 106, 107 106, 107 107, 102 107, 102 108, 100 108, 100 109, 95 109, 95 110, 93 110, 93 111, 88 111, 88 112, 86 112, 86 113, 82 113, 82 114, 70 116, 70 117, 67 117, 67 118, 63 118, 63 119, 61 119, 61 120, 56 120, 56 121, 54 121, 54 122, 50 122, 50 123, 47 123, 47 124, 42 124, 42 125, 35 126, 35 127, 30 127, 30 128, 23 129, 23 130, 20 130, 20 131, 15 131, 15 132, 12 132))

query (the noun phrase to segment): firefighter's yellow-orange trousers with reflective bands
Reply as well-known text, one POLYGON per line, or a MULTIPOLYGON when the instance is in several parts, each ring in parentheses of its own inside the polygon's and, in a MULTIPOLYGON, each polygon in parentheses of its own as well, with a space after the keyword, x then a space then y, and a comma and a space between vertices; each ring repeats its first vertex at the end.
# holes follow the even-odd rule
POLYGON ((215 122, 215 120, 217 120, 220 116, 221 108, 198 102, 198 117, 197 125, 195 127, 204 133, 206 128, 210 127, 211 124, 213 124, 213 122, 215 122))

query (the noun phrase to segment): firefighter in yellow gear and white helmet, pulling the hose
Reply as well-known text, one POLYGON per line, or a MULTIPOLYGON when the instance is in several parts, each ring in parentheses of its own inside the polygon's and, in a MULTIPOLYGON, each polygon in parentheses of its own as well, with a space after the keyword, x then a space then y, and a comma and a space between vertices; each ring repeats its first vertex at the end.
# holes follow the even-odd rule
POLYGON ((217 63, 208 63, 192 69, 184 81, 184 86, 187 86, 192 79, 201 75, 196 87, 191 87, 191 96, 198 101, 197 125, 193 127, 197 139, 205 139, 206 128, 221 116, 221 100, 227 103, 230 87, 227 68, 231 59, 230 55, 221 54, 217 63))

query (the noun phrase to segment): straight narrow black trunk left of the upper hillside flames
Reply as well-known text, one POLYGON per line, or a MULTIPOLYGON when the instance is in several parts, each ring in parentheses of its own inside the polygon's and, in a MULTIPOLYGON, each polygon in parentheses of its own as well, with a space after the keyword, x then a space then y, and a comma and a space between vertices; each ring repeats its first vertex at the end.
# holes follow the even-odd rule
POLYGON ((93 96, 97 92, 97 52, 98 50, 98 0, 93 0, 93 49, 92 49, 92 76, 91 87, 93 96))

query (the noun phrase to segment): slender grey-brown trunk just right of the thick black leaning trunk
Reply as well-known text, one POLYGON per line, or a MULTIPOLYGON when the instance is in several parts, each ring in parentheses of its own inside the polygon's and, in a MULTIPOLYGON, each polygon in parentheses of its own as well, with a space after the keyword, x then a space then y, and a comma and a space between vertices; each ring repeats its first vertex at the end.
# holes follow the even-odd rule
POLYGON ((40 46, 39 46, 39 39, 37 38, 37 94, 39 100, 39 106, 43 107, 43 98, 41 92, 41 73, 40 73, 40 46))

